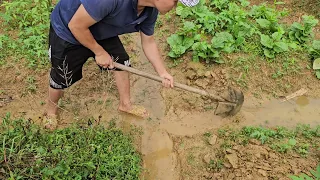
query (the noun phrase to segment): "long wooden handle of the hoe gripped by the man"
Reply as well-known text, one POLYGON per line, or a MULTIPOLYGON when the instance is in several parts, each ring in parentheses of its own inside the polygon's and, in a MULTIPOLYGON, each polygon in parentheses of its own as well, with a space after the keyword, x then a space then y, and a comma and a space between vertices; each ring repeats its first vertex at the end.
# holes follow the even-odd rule
MULTIPOLYGON (((153 75, 153 74, 149 74, 149 73, 146 73, 146 72, 143 72, 143 71, 139 71, 137 69, 134 69, 134 68, 131 68, 131 67, 116 63, 116 62, 114 62, 114 66, 116 68, 118 68, 118 69, 121 69, 121 70, 124 70, 124 71, 128 71, 130 73, 133 73, 133 74, 136 74, 136 75, 148 78, 148 79, 152 79, 154 81, 162 82, 162 80, 163 80, 163 78, 161 78, 159 76, 156 76, 156 75, 153 75)), ((197 88, 194 88, 194 87, 190 87, 190 86, 187 86, 187 85, 184 85, 184 84, 181 84, 181 83, 174 82, 174 86, 178 87, 180 89, 183 89, 183 90, 187 90, 187 91, 196 93, 196 94, 200 94, 200 95, 203 95, 203 96, 211 97, 212 99, 215 99, 217 101, 222 101, 222 102, 226 101, 225 99, 223 99, 220 96, 217 96, 217 95, 214 95, 214 94, 210 94, 210 93, 208 93, 208 92, 206 92, 204 90, 200 90, 200 89, 197 89, 197 88)))

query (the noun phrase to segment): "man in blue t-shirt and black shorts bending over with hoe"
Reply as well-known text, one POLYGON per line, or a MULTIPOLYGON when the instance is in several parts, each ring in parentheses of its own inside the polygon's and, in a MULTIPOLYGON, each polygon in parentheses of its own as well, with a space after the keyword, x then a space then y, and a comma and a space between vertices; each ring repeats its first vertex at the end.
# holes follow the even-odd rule
MULTIPOLYGON (((82 78, 83 64, 94 57, 102 70, 114 70, 120 95, 118 109, 138 116, 147 111, 132 105, 128 72, 114 69, 113 61, 130 66, 118 35, 140 32, 143 51, 162 77, 165 87, 173 87, 173 78, 166 71, 153 38, 158 12, 165 14, 178 0, 60 0, 51 14, 49 57, 51 60, 48 107, 44 126, 57 126, 57 103, 63 89, 82 78), (140 113, 138 113, 140 112, 140 113)), ((194 6, 199 0, 180 0, 194 6)))

